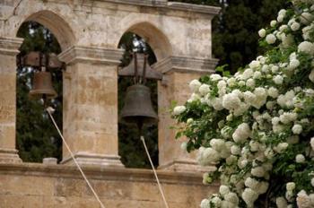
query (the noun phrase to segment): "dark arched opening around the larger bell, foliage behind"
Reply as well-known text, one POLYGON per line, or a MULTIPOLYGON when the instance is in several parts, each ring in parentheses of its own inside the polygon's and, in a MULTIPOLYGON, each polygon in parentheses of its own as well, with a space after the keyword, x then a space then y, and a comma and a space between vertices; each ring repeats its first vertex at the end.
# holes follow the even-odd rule
MULTIPOLYGON (((123 56, 120 67, 125 67, 130 64, 132 59, 131 54, 135 48, 141 48, 138 51, 148 54, 148 64, 153 65, 157 58, 153 49, 145 40, 133 32, 126 32, 118 44, 118 48, 124 48, 125 54, 123 56)), ((126 98, 126 89, 133 84, 133 79, 129 77, 118 78, 118 111, 120 112, 124 106, 126 98)), ((157 98, 157 81, 148 80, 145 84, 151 90, 151 99, 153 108, 157 113, 158 98, 157 98)), ((143 134, 147 147, 152 156, 153 164, 158 166, 158 125, 146 125, 143 129, 143 134)), ((144 151, 143 143, 139 138, 139 132, 135 124, 127 124, 119 122, 118 124, 118 152, 121 156, 121 161, 127 168, 150 168, 149 160, 144 151)))

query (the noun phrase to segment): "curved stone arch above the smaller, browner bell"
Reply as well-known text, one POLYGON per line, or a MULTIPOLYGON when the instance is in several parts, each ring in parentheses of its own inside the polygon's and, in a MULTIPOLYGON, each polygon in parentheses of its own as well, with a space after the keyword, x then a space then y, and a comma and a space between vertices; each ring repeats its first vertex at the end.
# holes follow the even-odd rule
MULTIPOLYGON (((41 10, 37 13, 32 13, 31 15, 29 15, 21 22, 21 25, 23 22, 28 21, 39 22, 40 24, 48 28, 48 30, 50 30, 57 38, 57 41, 60 44, 62 51, 74 45, 74 31, 71 29, 70 25, 65 22, 64 18, 62 18, 59 14, 51 12, 49 10, 41 10)), ((20 27, 17 27, 17 30, 19 28, 20 27)), ((17 30, 15 34, 17 33, 17 30)))

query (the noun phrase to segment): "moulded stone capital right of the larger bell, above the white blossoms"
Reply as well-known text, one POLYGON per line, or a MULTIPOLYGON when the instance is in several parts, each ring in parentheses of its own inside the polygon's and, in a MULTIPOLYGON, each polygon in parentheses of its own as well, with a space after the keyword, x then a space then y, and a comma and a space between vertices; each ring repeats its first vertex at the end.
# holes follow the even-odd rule
POLYGON ((187 56, 170 56, 153 65, 153 68, 162 74, 171 72, 181 73, 214 73, 218 59, 201 59, 187 56))

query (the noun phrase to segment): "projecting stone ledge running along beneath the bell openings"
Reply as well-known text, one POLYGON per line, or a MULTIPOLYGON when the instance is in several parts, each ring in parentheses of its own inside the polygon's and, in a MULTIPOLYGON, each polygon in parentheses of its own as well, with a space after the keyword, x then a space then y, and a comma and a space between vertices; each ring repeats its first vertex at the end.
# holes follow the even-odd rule
MULTIPOLYGON (((134 182, 153 182, 153 170, 125 169, 99 166, 83 166, 83 171, 90 179, 120 180, 134 182)), ((175 172, 157 170, 161 183, 188 184, 203 186, 200 172, 175 172)), ((50 165, 40 163, 0 163, 0 175, 27 175, 53 178, 82 178, 75 166, 50 165)))

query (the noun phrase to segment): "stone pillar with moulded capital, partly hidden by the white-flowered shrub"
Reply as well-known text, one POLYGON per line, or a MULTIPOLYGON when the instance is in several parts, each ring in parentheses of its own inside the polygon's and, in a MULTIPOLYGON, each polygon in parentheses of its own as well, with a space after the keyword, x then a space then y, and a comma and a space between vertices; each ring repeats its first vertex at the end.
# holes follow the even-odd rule
POLYGON ((191 95, 188 83, 203 74, 213 73, 216 62, 216 59, 170 56, 153 65, 154 69, 163 74, 163 80, 158 84, 159 169, 175 171, 208 169, 197 165, 195 152, 190 154, 181 150, 180 145, 187 138, 175 139, 176 131, 170 129, 170 126, 175 126, 175 121, 170 117, 169 109, 172 101, 183 105, 191 95))

